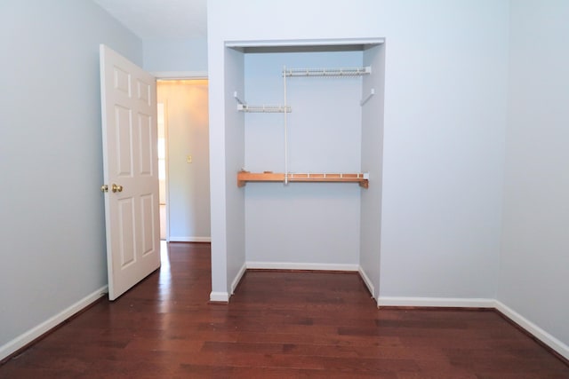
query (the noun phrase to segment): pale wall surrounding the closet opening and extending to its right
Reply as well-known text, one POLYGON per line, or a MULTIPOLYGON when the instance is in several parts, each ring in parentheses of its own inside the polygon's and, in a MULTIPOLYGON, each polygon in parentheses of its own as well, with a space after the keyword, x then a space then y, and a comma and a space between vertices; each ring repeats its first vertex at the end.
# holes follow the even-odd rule
MULTIPOLYGON (((268 2, 210 1, 210 127, 220 131, 212 138, 224 136, 228 88, 223 79, 213 80, 223 75, 224 41, 386 37, 380 295, 493 298, 501 239, 508 2, 350 5, 291 0, 274 12, 268 2)), ((212 155, 223 154, 213 144, 212 155)), ((222 170, 214 172, 212 165, 212 182, 235 176, 216 167, 222 170)), ((212 192, 212 201, 228 199, 212 192)), ((214 229, 231 227, 227 221, 212 220, 212 238, 214 229)), ((216 252, 215 242, 212 250, 225 255, 216 252)))

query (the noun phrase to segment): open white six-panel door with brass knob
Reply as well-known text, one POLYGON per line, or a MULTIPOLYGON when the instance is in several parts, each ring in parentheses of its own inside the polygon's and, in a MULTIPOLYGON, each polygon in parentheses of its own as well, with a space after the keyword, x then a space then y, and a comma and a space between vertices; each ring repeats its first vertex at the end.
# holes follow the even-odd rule
POLYGON ((108 298, 160 266, 156 78, 100 45, 108 298))

